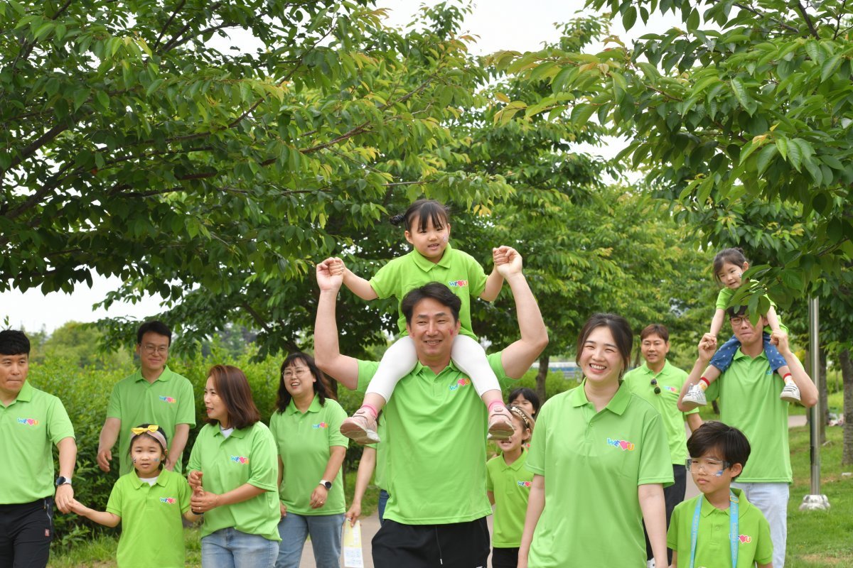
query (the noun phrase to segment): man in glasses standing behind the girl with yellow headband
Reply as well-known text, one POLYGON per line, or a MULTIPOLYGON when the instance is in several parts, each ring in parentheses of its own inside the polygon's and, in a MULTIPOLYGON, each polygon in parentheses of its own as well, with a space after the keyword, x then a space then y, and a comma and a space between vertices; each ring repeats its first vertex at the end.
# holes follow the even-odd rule
POLYGON ((171 330, 159 321, 142 324, 136 331, 139 369, 117 382, 110 395, 107 420, 98 441, 98 467, 110 470, 113 445, 119 440, 119 475, 133 469, 128 453, 131 427, 158 424, 171 440, 165 468, 181 471, 181 454, 187 445, 189 428, 195 426, 193 386, 166 366, 171 330))

